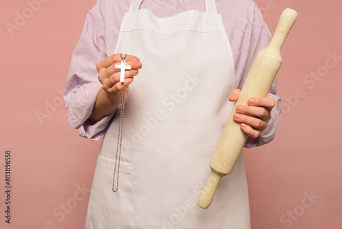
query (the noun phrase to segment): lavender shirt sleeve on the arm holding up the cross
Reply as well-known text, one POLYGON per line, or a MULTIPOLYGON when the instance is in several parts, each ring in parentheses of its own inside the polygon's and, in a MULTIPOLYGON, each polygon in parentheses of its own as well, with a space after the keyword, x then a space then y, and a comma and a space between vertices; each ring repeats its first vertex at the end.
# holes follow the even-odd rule
POLYGON ((71 58, 66 80, 64 101, 70 125, 80 136, 94 141, 101 140, 114 113, 90 123, 96 96, 101 88, 96 63, 106 58, 104 25, 98 11, 98 2, 88 12, 83 32, 71 58))

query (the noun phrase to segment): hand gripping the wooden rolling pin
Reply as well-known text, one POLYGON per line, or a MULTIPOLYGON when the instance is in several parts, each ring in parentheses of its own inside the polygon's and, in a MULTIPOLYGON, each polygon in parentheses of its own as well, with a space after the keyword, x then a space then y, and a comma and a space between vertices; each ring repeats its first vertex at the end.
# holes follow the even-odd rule
MULTIPOLYGON (((233 89, 229 95, 229 101, 237 101, 240 90, 233 89)), ((267 122, 271 119, 271 110, 276 105, 272 98, 252 97, 248 99, 248 105, 236 107, 234 120, 241 123, 241 129, 251 138, 257 138, 267 128, 267 122)))

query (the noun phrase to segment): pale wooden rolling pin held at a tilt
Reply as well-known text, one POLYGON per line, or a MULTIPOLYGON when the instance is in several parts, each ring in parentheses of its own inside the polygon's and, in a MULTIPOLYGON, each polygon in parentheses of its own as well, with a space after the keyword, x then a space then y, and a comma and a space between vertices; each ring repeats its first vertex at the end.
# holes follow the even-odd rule
POLYGON ((280 16, 271 43, 257 54, 241 89, 239 99, 235 103, 215 152, 211 156, 209 162, 211 176, 198 199, 198 206, 201 208, 209 207, 221 178, 231 173, 247 141, 248 135, 241 130, 240 123, 233 119, 235 108, 238 105, 247 105, 250 97, 267 97, 282 64, 280 49, 297 16, 298 14, 294 10, 285 9, 280 16))

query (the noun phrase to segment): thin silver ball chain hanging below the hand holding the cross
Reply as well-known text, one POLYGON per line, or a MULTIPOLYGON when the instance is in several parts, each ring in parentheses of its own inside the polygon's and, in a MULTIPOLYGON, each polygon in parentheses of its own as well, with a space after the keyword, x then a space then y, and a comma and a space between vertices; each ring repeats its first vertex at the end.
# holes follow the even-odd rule
POLYGON ((122 146, 122 129, 124 124, 124 89, 121 91, 121 108, 120 108, 120 121, 119 121, 119 132, 118 132, 118 144, 116 145, 116 156, 115 156, 115 165, 114 165, 114 175, 113 175, 113 184, 111 186, 111 190, 118 191, 119 188, 119 173, 120 173, 120 159, 121 159, 121 146, 122 146), (118 158, 119 156, 119 158, 118 158), (115 174, 116 174, 116 164, 118 164, 118 176, 116 178, 116 188, 114 188, 115 183, 115 174))

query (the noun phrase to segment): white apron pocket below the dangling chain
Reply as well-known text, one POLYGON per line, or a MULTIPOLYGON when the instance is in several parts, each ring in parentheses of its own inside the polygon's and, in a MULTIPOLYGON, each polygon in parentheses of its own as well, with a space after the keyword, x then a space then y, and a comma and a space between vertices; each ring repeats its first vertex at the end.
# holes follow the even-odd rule
POLYGON ((114 166, 115 160, 98 156, 86 228, 134 228, 132 165, 120 162, 116 193, 111 190, 114 166))

